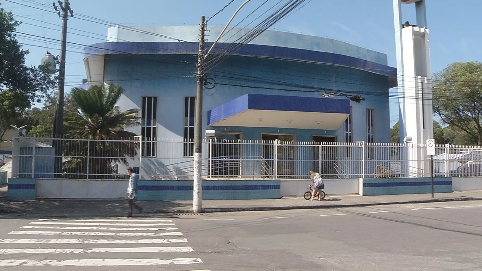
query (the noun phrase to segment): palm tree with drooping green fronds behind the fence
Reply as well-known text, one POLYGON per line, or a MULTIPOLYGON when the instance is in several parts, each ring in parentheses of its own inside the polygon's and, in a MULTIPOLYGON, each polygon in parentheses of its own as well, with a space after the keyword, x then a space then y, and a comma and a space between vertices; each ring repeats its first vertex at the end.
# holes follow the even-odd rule
POLYGON ((95 179, 112 178, 117 163, 127 165, 127 158, 137 155, 137 135, 124 128, 140 125, 139 109, 121 111, 116 103, 123 93, 124 89, 114 84, 71 90, 77 111, 65 112, 66 135, 90 140, 65 140, 67 175, 79 178, 88 171, 95 179))

